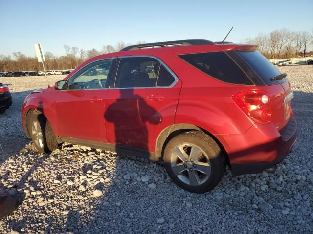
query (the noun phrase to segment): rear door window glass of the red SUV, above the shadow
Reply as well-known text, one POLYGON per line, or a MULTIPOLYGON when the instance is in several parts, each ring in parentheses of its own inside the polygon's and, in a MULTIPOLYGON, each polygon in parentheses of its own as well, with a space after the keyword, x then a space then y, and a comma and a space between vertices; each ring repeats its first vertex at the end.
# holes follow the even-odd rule
POLYGON ((122 58, 116 74, 115 88, 169 86, 175 78, 156 59, 150 57, 122 58))

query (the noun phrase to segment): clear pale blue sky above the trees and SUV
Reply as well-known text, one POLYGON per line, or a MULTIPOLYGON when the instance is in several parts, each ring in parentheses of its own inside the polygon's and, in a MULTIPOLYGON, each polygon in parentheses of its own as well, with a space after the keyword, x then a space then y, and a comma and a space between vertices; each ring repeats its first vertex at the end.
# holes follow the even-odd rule
POLYGON ((0 54, 63 55, 64 44, 100 50, 135 43, 227 38, 240 42, 279 28, 313 29, 313 0, 0 0, 0 54))

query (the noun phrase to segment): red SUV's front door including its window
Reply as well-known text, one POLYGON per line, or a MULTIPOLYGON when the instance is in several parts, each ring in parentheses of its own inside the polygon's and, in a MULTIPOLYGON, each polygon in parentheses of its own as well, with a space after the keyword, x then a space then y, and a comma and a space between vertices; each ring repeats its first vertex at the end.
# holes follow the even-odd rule
POLYGON ((56 116, 60 137, 107 142, 101 108, 108 92, 113 59, 89 63, 68 80, 67 90, 56 97, 56 116))

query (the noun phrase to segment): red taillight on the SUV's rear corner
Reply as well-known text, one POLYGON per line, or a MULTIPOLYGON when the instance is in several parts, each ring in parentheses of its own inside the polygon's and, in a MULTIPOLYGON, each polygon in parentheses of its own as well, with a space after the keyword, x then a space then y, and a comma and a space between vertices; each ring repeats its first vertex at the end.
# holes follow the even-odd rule
POLYGON ((272 110, 267 92, 262 90, 248 90, 233 95, 236 104, 257 123, 270 122, 272 110))

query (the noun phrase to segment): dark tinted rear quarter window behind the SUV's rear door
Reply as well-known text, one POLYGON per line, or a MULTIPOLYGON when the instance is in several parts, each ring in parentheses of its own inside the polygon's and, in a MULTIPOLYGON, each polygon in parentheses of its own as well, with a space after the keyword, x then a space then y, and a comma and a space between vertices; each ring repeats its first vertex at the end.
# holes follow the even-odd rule
POLYGON ((253 85, 253 82, 225 52, 179 55, 207 75, 232 84, 253 85))

